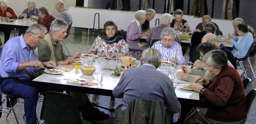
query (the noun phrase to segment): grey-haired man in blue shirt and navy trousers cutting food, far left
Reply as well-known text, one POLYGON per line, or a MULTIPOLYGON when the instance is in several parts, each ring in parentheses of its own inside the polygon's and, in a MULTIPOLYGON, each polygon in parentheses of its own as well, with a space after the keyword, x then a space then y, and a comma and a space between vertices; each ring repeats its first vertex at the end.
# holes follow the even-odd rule
MULTIPOLYGON (((47 32, 44 26, 34 24, 25 34, 13 37, 4 45, 0 60, 1 89, 7 94, 24 99, 26 124, 36 124, 38 89, 31 86, 35 71, 41 67, 56 67, 54 61, 41 62, 35 48, 47 32)), ((0 95, 2 96, 2 95, 0 95)))

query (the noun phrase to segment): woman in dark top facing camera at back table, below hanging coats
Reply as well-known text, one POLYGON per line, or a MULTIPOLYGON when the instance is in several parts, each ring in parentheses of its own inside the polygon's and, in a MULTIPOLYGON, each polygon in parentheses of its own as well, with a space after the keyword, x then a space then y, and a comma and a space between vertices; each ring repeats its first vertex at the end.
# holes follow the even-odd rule
POLYGON ((174 16, 174 19, 172 20, 171 28, 173 28, 174 30, 182 30, 183 28, 190 28, 188 26, 188 21, 182 19, 182 16, 183 16, 182 10, 178 9, 174 11, 173 16, 174 16))

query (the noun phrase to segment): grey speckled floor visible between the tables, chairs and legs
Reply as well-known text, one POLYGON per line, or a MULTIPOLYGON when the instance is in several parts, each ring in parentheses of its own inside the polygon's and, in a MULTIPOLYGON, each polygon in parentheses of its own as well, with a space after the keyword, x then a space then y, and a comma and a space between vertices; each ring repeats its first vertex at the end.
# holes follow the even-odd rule
MULTIPOLYGON (((90 47, 94 41, 94 39, 96 38, 96 34, 92 35, 92 31, 90 30, 89 33, 90 36, 88 36, 88 29, 81 29, 81 28, 71 28, 70 31, 70 35, 68 37, 67 40, 65 40, 66 46, 70 52, 71 55, 73 55, 76 52, 80 52, 80 53, 88 53, 90 50, 90 47), (74 31, 76 30, 76 31, 74 31)), ((3 32, 0 32, 0 36, 3 42, 4 36, 3 36, 3 32)), ((13 37, 13 33, 11 34, 11 37, 13 37)), ((0 47, 0 51, 2 51, 2 47, 3 45, 0 47)), ((188 52, 185 53, 184 55, 186 62, 188 61, 188 52)), ((251 62, 252 65, 254 67, 255 70, 255 63, 256 58, 255 57, 251 57, 251 62)), ((248 68, 246 68, 248 69, 248 68)), ((249 77, 252 79, 252 83, 250 83, 250 85, 248 86, 248 88, 246 89, 246 93, 248 93, 251 89, 255 89, 255 79, 252 78, 252 73, 251 71, 248 69, 248 73, 249 73, 249 77)), ((2 96, 4 98, 4 95, 2 96)), ((2 99, 3 99, 2 98, 2 99)), ((109 101, 110 101, 110 97, 109 96, 100 96, 100 105, 105 106, 108 108, 109 105, 109 101)), ((121 103, 121 99, 116 99, 116 106, 118 106, 121 103)), ((23 119, 23 115, 24 115, 24 108, 23 108, 23 103, 18 102, 15 106, 14 109, 16 110, 16 114, 18 116, 18 121, 20 124, 25 124, 25 121, 23 119)), ((42 107, 42 102, 38 102, 37 105, 37 116, 38 116, 38 120, 39 122, 41 122, 42 120, 40 120, 40 110, 42 107)), ((249 116, 248 116, 248 124, 256 124, 256 104, 255 101, 252 104, 252 111, 250 111, 249 116)), ((102 109, 101 109, 102 110, 102 109)), ((115 124, 115 117, 114 117, 114 113, 111 113, 107 110, 103 110, 105 113, 110 114, 110 119, 108 120, 104 120, 104 121, 96 121, 94 122, 95 124, 115 124)), ((16 124, 16 120, 14 119, 14 115, 10 115, 7 119, 5 118, 6 114, 4 113, 2 115, 2 118, 0 118, 0 124, 16 124)), ((177 115, 175 116, 175 119, 177 119, 177 115)))

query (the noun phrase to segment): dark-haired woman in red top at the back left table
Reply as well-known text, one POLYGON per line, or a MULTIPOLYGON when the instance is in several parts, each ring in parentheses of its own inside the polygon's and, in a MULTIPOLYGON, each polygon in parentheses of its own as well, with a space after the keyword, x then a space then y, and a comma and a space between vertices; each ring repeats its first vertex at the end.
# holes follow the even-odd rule
POLYGON ((38 9, 39 14, 38 16, 35 16, 37 24, 40 24, 42 26, 45 26, 47 28, 47 31, 50 31, 50 26, 52 24, 52 21, 56 18, 49 14, 48 10, 45 7, 41 7, 38 9))

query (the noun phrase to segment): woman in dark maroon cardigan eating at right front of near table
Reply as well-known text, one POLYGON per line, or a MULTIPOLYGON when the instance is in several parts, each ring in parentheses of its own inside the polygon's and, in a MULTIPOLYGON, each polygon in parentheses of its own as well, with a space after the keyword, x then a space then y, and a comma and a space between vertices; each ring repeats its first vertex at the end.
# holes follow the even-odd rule
POLYGON ((185 124, 241 124, 246 116, 246 96, 240 75, 227 65, 224 51, 210 51, 203 59, 214 79, 210 81, 198 76, 190 84, 204 98, 200 98, 201 103, 194 114, 187 115, 185 124))

